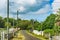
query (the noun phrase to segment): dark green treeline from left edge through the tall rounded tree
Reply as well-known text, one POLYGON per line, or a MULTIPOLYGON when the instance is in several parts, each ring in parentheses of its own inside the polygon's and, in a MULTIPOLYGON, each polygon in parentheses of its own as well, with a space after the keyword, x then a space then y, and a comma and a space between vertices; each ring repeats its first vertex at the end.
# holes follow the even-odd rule
POLYGON ((14 20, 14 26, 15 27, 20 27, 20 29, 33 29, 33 30, 45 30, 45 29, 52 29, 54 27, 55 23, 55 15, 51 14, 46 18, 44 22, 38 22, 37 20, 31 19, 31 20, 21 20, 21 19, 13 19, 9 18, 9 24, 7 24, 7 18, 2 19, 0 17, 1 26, 13 26, 13 20, 14 20))

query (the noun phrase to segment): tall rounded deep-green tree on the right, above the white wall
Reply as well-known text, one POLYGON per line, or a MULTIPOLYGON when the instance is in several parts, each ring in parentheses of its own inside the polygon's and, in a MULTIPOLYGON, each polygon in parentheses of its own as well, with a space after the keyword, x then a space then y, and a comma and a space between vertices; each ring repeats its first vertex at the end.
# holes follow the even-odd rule
POLYGON ((45 29, 52 29, 55 24, 55 18, 56 16, 54 14, 51 14, 47 17, 47 19, 43 22, 43 30, 45 29))

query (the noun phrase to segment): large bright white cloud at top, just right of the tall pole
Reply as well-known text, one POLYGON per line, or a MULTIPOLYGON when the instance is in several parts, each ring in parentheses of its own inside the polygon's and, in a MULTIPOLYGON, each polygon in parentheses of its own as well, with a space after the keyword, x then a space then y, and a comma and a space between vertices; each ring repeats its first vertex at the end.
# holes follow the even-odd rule
POLYGON ((26 11, 28 6, 33 6, 36 3, 36 0, 10 0, 10 2, 14 2, 12 6, 10 6, 10 12, 15 12, 20 9, 20 12, 26 11))

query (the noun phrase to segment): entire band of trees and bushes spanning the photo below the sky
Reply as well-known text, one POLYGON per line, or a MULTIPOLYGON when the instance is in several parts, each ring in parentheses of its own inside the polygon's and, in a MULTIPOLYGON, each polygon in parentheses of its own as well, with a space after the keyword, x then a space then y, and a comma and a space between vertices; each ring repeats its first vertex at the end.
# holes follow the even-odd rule
POLYGON ((49 34, 50 36, 53 35, 60 35, 60 10, 57 14, 50 14, 46 20, 43 22, 39 22, 37 20, 22 20, 18 18, 18 20, 14 18, 9 18, 9 22, 7 23, 7 18, 2 18, 0 16, 0 28, 6 28, 9 26, 11 27, 18 27, 21 30, 33 30, 44 31, 44 33, 49 34), (13 23, 14 21, 14 23, 13 23))

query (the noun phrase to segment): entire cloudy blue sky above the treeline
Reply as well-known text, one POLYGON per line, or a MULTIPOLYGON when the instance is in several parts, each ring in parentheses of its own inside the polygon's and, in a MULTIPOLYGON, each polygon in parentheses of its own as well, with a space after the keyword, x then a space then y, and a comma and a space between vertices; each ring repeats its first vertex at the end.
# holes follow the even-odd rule
MULTIPOLYGON (((60 0, 9 0, 9 17, 16 18, 18 10, 21 19, 44 21, 50 14, 56 14, 59 8, 60 0)), ((6 15, 7 0, 0 0, 0 16, 6 15)))

